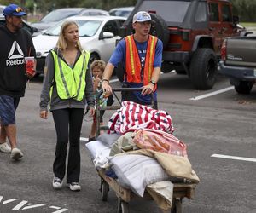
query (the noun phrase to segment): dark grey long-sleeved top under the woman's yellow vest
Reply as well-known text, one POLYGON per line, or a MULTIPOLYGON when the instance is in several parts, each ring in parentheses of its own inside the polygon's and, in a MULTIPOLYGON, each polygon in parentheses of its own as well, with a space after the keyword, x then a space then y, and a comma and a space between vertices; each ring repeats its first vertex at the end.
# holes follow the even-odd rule
MULTIPOLYGON (((59 57, 61 57, 62 60, 64 60, 63 55, 61 55, 61 51, 58 51, 59 57)), ((76 60, 78 60, 79 56, 81 55, 81 52, 78 52, 78 55, 76 57, 76 60)), ((88 64, 88 67, 90 67, 90 64, 88 64)), ((59 97, 56 90, 56 83, 55 83, 55 65, 54 65, 54 59, 53 55, 49 53, 47 55, 45 60, 45 67, 44 67, 44 82, 43 82, 43 88, 40 96, 40 110, 41 111, 47 111, 48 110, 48 104, 50 101, 50 107, 49 110, 53 111, 56 109, 63 109, 63 108, 84 108, 86 103, 89 107, 94 107, 94 96, 93 96, 93 84, 92 84, 92 78, 90 74, 90 69, 86 71, 85 76, 85 91, 84 91, 84 98, 82 101, 76 101, 73 98, 63 100, 59 97), (50 89, 52 88, 52 94, 50 96, 50 89)))

